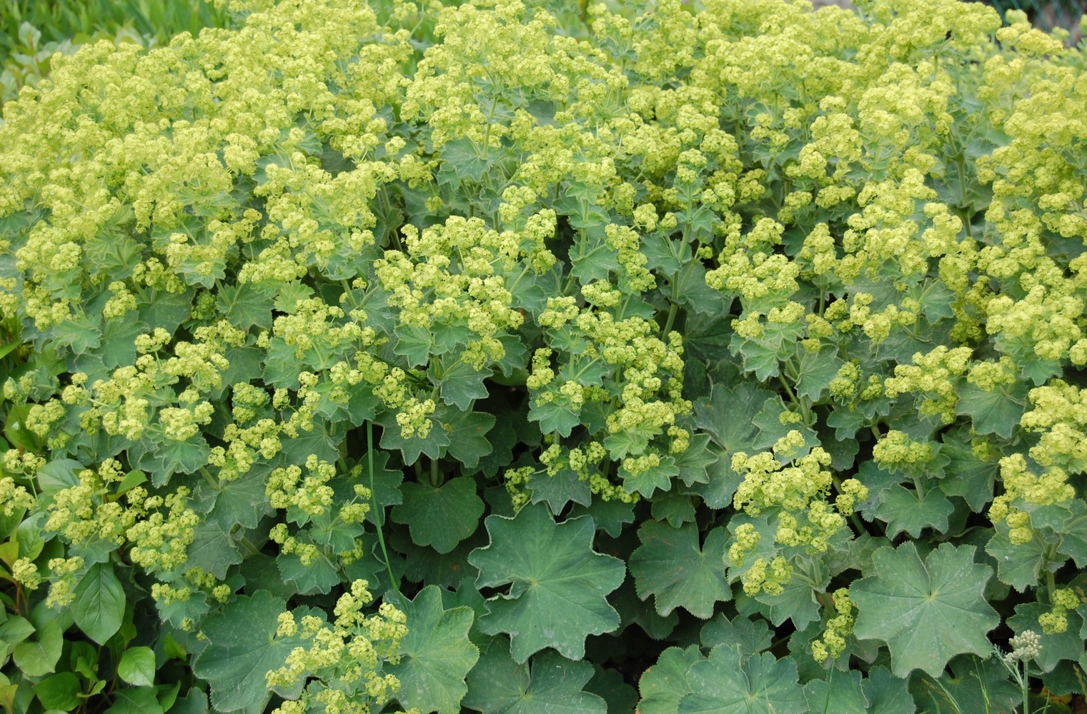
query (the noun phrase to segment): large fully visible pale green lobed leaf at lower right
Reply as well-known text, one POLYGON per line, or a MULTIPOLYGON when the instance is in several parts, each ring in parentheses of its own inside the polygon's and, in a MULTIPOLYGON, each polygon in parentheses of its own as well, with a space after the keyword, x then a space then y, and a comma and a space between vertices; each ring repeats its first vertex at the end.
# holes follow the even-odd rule
POLYGON ((988 656, 986 634, 1000 616, 985 601, 992 568, 974 562, 974 547, 940 543, 924 561, 912 542, 884 546, 872 555, 873 575, 850 586, 860 640, 890 648, 891 671, 922 669, 938 677, 960 653, 988 656))

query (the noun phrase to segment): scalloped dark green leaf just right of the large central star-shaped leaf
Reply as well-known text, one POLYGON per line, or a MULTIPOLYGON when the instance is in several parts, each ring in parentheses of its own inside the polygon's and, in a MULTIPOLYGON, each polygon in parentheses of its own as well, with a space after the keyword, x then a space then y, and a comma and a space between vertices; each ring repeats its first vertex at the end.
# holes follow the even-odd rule
POLYGON ((730 600, 732 589, 725 577, 727 531, 715 528, 699 547, 698 526, 673 528, 666 523, 647 521, 638 528, 641 541, 629 560, 630 575, 642 600, 653 596, 657 612, 667 616, 683 607, 696 617, 713 615, 716 602, 730 600))

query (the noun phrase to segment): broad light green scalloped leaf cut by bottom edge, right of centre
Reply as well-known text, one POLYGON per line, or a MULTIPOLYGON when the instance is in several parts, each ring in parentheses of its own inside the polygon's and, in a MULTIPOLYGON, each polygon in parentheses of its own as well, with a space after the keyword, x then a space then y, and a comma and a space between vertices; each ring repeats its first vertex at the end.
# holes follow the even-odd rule
POLYGON ((808 710, 797 664, 770 652, 741 657, 739 650, 717 647, 696 662, 688 675, 691 692, 679 700, 678 714, 801 714, 808 710))

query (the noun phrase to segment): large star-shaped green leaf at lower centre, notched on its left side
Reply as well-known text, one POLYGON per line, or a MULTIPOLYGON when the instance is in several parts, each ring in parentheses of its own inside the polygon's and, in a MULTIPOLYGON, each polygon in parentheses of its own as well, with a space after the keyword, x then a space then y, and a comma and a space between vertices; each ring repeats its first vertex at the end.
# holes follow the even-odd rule
POLYGON ((512 518, 490 515, 485 523, 490 544, 468 555, 479 568, 476 587, 510 585, 510 590, 487 601, 479 629, 509 634, 515 660, 524 662, 546 647, 580 660, 587 636, 619 627, 619 613, 605 596, 622 585, 626 567, 592 550, 592 518, 557 524, 547 506, 534 504, 512 518))

